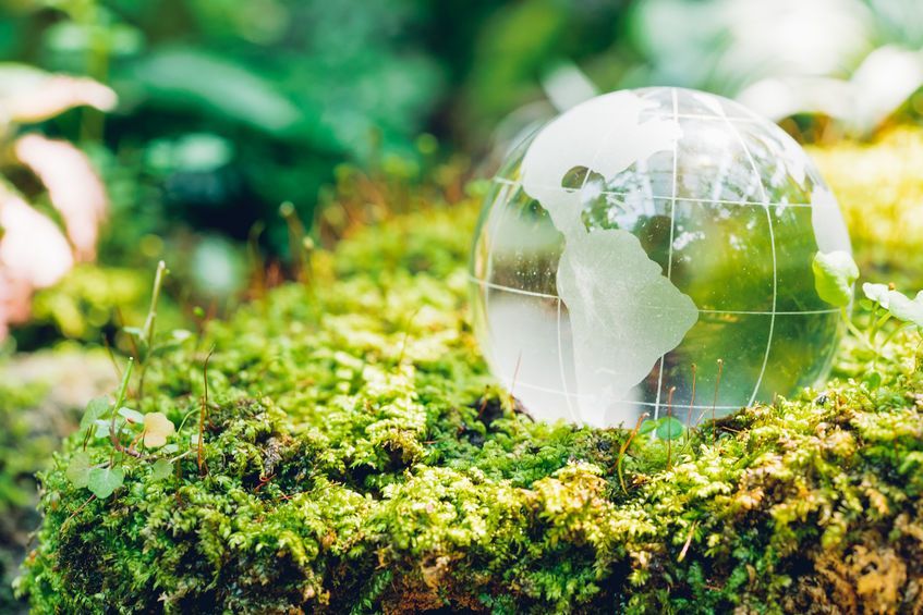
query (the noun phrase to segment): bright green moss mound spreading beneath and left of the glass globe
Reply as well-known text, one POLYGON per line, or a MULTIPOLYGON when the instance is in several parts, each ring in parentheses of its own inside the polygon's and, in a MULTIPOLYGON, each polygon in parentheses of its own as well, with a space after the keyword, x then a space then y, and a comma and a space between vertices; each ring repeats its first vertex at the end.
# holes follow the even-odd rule
POLYGON ((311 290, 151 352, 143 394, 135 366, 41 475, 17 591, 38 613, 923 606, 915 333, 877 382, 850 337, 824 391, 691 430, 537 422, 466 323, 473 224, 355 233, 311 290))

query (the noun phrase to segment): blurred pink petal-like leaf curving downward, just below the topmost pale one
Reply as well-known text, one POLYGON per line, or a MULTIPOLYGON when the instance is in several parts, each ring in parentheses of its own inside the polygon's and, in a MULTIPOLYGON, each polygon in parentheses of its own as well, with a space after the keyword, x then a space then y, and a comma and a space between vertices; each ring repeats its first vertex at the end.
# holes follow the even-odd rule
POLYGON ((14 151, 48 188, 51 205, 61 213, 77 259, 93 260, 107 198, 89 159, 68 142, 37 134, 16 140, 14 151))

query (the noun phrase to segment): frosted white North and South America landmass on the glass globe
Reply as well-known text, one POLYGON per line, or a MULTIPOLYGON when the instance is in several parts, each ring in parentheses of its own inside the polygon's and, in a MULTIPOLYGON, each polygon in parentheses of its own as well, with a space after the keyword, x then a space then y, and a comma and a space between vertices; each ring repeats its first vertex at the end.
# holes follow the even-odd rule
POLYGON ((606 415, 618 411, 609 406, 626 401, 699 319, 693 300, 637 237, 621 229, 587 230, 580 190, 562 188, 575 170, 610 181, 675 149, 680 126, 667 119, 641 121, 649 104, 632 91, 588 100, 544 127, 522 162, 523 190, 564 237, 556 282, 570 313, 576 384, 602 392, 578 398, 580 418, 590 425, 608 422, 606 415))

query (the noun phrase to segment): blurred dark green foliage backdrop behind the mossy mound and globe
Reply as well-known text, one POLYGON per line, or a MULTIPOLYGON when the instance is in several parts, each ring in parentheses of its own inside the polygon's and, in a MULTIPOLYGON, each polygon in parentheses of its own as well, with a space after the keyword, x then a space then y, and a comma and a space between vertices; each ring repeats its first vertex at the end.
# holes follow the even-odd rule
MULTIPOLYGON (((554 112, 547 100, 567 100, 573 82, 556 83, 559 72, 580 75, 587 94, 593 84, 670 83, 736 95, 779 76, 847 79, 878 47, 923 45, 911 0, 789 4, 791 12, 753 0, 3 0, 0 58, 88 74, 119 93, 105 125, 100 113, 80 110, 44 126, 78 138, 105 171, 114 213, 104 260, 146 265, 136 257, 148 235, 189 226, 244 239, 257 221, 263 247, 284 256, 280 202, 313 220, 343 162, 401 167, 405 181, 420 182, 421 161, 434 156, 420 147, 424 132, 442 144, 437 157, 459 147, 483 153, 498 124, 501 142, 514 138, 554 112), (766 19, 776 27, 762 27, 766 19), (812 34, 814 21, 839 30, 812 34), (544 107, 523 111, 536 101, 544 107)), ((900 59, 904 69, 915 61, 900 59)), ((912 93, 906 73, 898 89, 912 93)), ((848 110, 798 97, 780 108, 796 116, 789 130, 823 138, 827 124, 805 113, 841 112, 865 126, 901 104, 888 98, 900 91, 848 110)))

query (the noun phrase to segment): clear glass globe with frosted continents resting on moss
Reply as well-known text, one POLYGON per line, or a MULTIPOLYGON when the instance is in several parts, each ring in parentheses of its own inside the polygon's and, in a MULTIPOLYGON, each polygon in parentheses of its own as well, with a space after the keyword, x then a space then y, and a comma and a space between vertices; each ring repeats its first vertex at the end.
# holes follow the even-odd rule
POLYGON ((781 128, 701 91, 616 91, 494 179, 474 327, 535 418, 696 422, 826 377, 840 327, 814 288, 817 250, 850 251, 849 235, 781 128))

